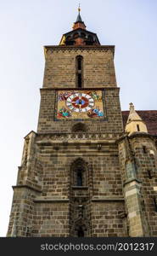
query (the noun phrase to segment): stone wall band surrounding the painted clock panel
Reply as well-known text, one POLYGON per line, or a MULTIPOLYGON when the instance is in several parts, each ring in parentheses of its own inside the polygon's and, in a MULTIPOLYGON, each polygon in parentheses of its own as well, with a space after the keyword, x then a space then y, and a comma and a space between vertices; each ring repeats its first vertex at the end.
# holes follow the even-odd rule
MULTIPOLYGON (((41 90, 41 106, 38 120, 37 132, 55 133, 71 132, 72 126, 78 123, 76 120, 55 121, 55 90, 41 90)), ((123 131, 121 106, 118 89, 106 89, 104 97, 104 120, 82 121, 87 126, 88 132, 118 132, 123 131)))

